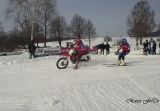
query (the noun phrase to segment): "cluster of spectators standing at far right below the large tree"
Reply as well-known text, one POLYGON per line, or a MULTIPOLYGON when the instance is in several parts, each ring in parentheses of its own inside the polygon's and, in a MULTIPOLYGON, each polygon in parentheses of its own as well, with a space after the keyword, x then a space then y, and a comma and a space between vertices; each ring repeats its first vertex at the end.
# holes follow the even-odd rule
MULTIPOLYGON (((160 47, 160 44, 159 44, 160 47)), ((153 38, 150 39, 150 41, 146 40, 143 43, 143 53, 146 54, 151 54, 151 55, 156 55, 156 50, 157 50, 157 43, 153 38)))

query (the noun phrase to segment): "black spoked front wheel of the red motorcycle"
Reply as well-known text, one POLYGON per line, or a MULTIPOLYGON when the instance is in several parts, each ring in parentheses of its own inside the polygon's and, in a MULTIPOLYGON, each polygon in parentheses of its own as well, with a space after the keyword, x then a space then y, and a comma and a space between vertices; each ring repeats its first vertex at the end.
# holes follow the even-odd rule
POLYGON ((68 64, 69 64, 69 61, 68 61, 67 58, 60 58, 57 61, 56 66, 57 66, 58 69, 65 69, 65 68, 67 68, 68 64))

